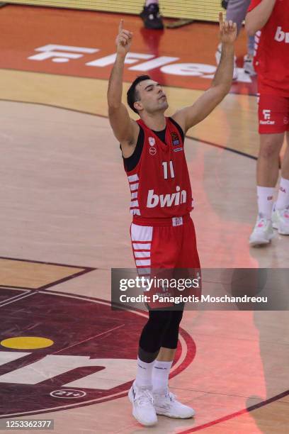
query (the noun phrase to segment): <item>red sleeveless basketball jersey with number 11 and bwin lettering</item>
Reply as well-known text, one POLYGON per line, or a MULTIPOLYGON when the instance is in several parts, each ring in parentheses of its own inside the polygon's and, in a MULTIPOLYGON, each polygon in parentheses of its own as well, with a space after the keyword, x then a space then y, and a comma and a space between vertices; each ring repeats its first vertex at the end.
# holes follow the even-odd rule
POLYGON ((128 174, 130 213, 142 218, 184 216, 192 209, 191 183, 183 140, 178 128, 166 118, 166 143, 142 120, 145 140, 140 161, 128 174))

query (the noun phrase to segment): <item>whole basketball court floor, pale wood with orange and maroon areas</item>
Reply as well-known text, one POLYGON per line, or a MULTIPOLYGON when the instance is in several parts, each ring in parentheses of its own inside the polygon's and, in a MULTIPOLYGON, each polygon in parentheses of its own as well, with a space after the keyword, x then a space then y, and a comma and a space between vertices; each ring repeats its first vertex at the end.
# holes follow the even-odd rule
MULTIPOLYGON (((145 314, 109 305, 111 268, 134 267, 129 189, 106 108, 119 19, 0 9, 0 418, 52 418, 57 434, 285 434, 287 311, 186 311, 170 386, 196 418, 160 416, 148 429, 131 416, 127 393, 145 314)), ((160 57, 174 60, 148 73, 166 86, 169 113, 210 85, 215 23, 154 34, 137 16, 124 19, 135 38, 124 91, 160 57), (169 66, 183 63, 191 75, 169 66)), ((286 268, 288 238, 248 245, 259 139, 256 82, 242 71, 244 33, 236 51, 240 81, 186 138, 200 260, 210 268, 286 268)))

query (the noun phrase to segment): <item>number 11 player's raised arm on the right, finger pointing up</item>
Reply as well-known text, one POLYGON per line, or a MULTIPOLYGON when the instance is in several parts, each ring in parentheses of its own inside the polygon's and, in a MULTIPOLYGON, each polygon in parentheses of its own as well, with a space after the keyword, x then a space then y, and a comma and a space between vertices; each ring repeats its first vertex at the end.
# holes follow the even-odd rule
POLYGON ((222 56, 211 87, 192 106, 185 107, 172 116, 183 128, 184 133, 192 126, 203 121, 215 109, 215 106, 220 104, 231 88, 234 67, 234 41, 237 38, 237 26, 232 21, 223 21, 222 13, 219 16, 219 22, 222 56))

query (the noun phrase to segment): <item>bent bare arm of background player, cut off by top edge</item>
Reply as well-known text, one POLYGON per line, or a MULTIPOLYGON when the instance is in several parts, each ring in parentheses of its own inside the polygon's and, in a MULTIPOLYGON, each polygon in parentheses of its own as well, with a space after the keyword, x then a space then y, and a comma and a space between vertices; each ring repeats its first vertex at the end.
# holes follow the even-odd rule
POLYGON ((250 5, 245 21, 246 32, 249 36, 253 36, 258 30, 261 30, 261 28, 265 26, 268 18, 271 16, 275 4, 276 0, 261 0, 254 1, 250 5), (254 3, 256 3, 256 7, 250 10, 252 6, 255 6, 254 3))

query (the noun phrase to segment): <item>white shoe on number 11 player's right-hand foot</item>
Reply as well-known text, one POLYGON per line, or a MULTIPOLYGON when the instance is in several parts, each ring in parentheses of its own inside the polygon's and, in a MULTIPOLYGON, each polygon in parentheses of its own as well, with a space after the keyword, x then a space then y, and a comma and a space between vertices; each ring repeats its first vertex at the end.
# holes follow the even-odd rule
POLYGON ((154 391, 154 408, 157 414, 169 418, 188 419, 195 416, 193 408, 181 404, 176 396, 168 391, 154 391))

